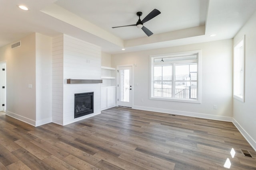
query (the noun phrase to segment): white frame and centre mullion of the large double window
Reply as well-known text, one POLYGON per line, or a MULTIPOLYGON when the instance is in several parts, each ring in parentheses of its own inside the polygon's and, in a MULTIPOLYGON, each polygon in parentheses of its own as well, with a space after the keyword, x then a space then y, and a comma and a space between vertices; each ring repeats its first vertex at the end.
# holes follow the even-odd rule
POLYGON ((202 51, 201 50, 195 50, 195 51, 185 51, 185 52, 179 52, 179 53, 168 53, 168 54, 160 54, 160 55, 150 55, 150 100, 165 100, 165 101, 172 101, 172 102, 187 102, 187 103, 201 103, 201 57, 202 57, 202 51), (154 59, 160 59, 160 58, 166 58, 166 57, 182 57, 187 55, 197 55, 198 59, 190 59, 190 60, 178 60, 178 61, 167 61, 166 63, 158 63, 154 64, 154 59), (181 99, 181 98, 175 98, 175 93, 173 91, 175 90, 175 86, 172 84, 172 97, 171 98, 164 98, 164 97, 154 97, 154 66, 157 65, 170 65, 172 64, 172 82, 176 82, 175 80, 175 65, 176 64, 192 64, 192 63, 198 64, 198 70, 197 70, 197 91, 198 96, 197 99, 181 99), (174 90, 173 90, 174 89, 174 90))

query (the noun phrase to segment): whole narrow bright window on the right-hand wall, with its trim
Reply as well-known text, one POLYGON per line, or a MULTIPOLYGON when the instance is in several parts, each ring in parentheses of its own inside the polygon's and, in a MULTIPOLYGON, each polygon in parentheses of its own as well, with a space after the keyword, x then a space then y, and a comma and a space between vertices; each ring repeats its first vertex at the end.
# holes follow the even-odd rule
POLYGON ((234 98, 244 102, 244 37, 234 46, 234 98))

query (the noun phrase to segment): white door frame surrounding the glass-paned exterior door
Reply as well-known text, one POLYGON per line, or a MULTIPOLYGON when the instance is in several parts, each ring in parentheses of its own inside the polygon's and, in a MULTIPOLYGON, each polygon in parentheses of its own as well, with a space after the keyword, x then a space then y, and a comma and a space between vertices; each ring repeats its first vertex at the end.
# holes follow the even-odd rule
MULTIPOLYGON (((134 64, 125 64, 125 65, 117 65, 116 66, 116 70, 118 70, 119 67, 127 67, 127 66, 131 66, 132 67, 132 96, 131 97, 131 100, 132 100, 132 108, 134 107, 134 64)), ((116 71, 116 106, 118 106, 118 98, 120 96, 120 90, 118 87, 118 83, 119 83, 119 76, 118 76, 118 71, 116 71)), ((118 107, 121 107, 121 106, 118 106, 118 107)))

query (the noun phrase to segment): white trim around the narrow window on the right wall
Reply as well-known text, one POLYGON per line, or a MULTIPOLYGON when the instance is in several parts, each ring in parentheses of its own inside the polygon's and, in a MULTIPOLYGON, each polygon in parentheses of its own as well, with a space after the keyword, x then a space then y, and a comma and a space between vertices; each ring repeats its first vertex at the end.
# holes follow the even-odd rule
POLYGON ((234 43, 234 48, 233 48, 233 54, 234 54, 234 56, 233 56, 233 98, 234 99, 237 99, 237 100, 239 100, 239 101, 241 101, 241 102, 244 102, 244 65, 245 65, 245 35, 242 37, 242 38, 240 38, 236 43, 234 43), (241 42, 241 41, 243 41, 243 59, 242 59, 242 70, 243 70, 243 78, 242 78, 242 95, 236 95, 236 94, 234 94, 234 77, 235 77, 235 75, 234 75, 234 63, 235 63, 235 60, 234 60, 234 58, 235 58, 235 48, 236 48, 236 46, 241 42))

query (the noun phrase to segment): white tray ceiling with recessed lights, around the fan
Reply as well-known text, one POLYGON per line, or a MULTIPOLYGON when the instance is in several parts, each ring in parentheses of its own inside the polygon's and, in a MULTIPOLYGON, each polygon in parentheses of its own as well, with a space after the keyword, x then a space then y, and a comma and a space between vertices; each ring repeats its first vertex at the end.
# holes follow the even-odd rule
POLYGON ((215 41, 234 37, 255 11, 256 0, 0 0, 0 47, 33 32, 65 33, 110 54, 215 41), (152 36, 135 26, 112 29, 154 8, 161 14, 144 23, 152 36))

